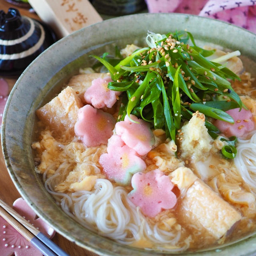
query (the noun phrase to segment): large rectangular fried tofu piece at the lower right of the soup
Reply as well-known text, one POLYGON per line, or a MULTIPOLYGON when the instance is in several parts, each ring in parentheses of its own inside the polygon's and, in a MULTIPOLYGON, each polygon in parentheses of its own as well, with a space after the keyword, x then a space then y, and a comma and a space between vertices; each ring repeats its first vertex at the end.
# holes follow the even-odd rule
POLYGON ((180 214, 183 221, 201 225, 216 239, 224 236, 241 219, 240 213, 186 167, 170 173, 183 196, 180 214))

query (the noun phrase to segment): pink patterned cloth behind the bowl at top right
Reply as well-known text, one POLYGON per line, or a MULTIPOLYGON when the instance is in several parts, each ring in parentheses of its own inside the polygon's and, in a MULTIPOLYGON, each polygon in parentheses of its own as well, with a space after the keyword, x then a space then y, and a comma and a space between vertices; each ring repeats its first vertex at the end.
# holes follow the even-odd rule
POLYGON ((149 12, 179 12, 224 20, 256 33, 256 0, 146 0, 149 12))

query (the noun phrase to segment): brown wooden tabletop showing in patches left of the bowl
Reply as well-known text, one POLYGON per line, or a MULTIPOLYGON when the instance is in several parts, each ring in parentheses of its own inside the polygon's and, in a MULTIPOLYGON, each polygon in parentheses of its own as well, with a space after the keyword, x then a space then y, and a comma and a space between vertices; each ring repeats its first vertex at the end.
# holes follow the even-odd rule
MULTIPOLYGON (((29 16, 31 18, 39 19, 38 16, 35 13, 29 12, 28 9, 24 8, 18 8, 17 6, 14 6, 5 0, 0 0, 0 10, 4 10, 6 13, 8 11, 8 8, 13 7, 17 8, 20 11, 21 15, 29 16)), ((18 77, 17 77, 18 78, 18 77)), ((9 89, 11 90, 14 86, 17 78, 6 78, 4 79, 9 84, 9 89)), ((0 198, 4 200, 7 204, 12 206, 12 203, 17 198, 21 197, 19 192, 16 190, 14 184, 12 183, 12 180, 8 174, 8 171, 5 166, 4 157, 2 155, 2 148, 0 145, 0 198)), ((77 246, 76 244, 70 242, 60 234, 57 234, 52 239, 58 246, 60 246, 64 251, 66 251, 70 256, 93 256, 95 254, 92 254, 91 252, 88 252, 84 250, 83 248, 77 246)))

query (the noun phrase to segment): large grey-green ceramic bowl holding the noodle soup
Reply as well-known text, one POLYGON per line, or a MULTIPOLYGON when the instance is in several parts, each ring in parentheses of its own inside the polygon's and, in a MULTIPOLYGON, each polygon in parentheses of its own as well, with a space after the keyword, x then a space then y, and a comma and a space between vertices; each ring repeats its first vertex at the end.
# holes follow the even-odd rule
MULTIPOLYGON (((131 248, 86 230, 68 217, 48 194, 34 171, 31 150, 36 121, 35 110, 60 92, 61 86, 80 67, 92 65, 90 54, 111 51, 115 45, 144 44, 147 31, 192 32, 199 45, 240 50, 245 67, 256 75, 256 35, 225 22, 186 14, 135 14, 106 20, 79 30, 44 51, 22 73, 4 112, 2 148, 16 188, 36 214, 57 232, 91 252, 104 256, 164 256, 169 253, 131 248)), ((256 235, 221 248, 194 252, 194 256, 255 255, 256 235)), ((187 253, 180 255, 186 255, 187 253)), ((191 254, 190 254, 191 255, 191 254)))

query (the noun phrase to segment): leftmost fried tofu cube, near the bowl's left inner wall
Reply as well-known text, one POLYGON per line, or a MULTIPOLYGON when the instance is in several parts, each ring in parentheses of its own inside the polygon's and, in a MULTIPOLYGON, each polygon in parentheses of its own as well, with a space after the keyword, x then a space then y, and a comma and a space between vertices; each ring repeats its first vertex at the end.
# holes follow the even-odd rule
POLYGON ((74 125, 78 119, 78 110, 82 102, 76 92, 66 87, 49 103, 36 111, 38 118, 58 133, 74 134, 74 125))

